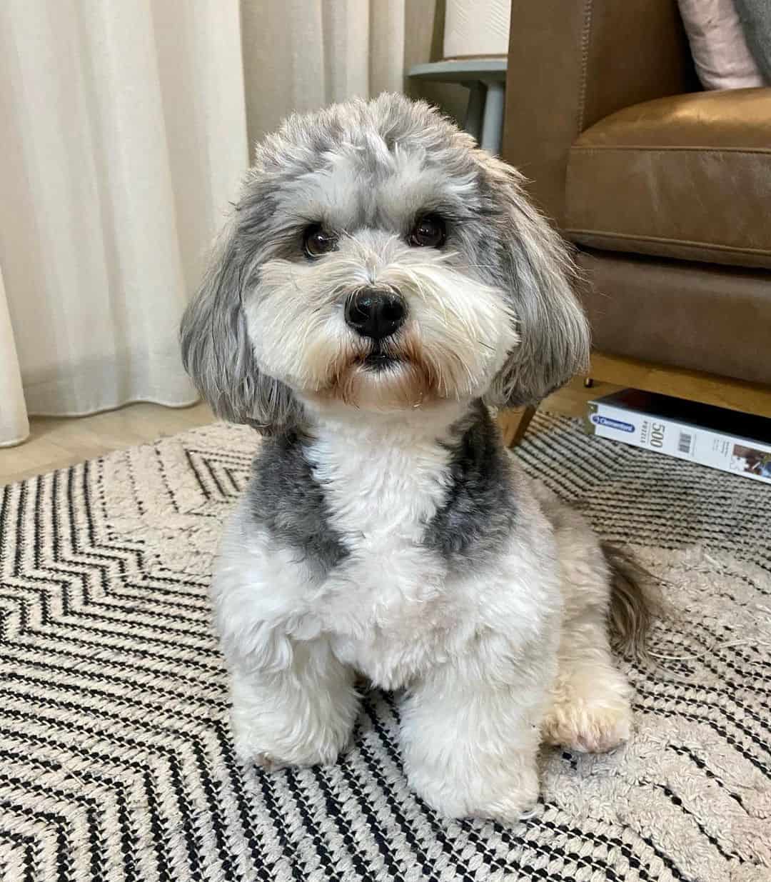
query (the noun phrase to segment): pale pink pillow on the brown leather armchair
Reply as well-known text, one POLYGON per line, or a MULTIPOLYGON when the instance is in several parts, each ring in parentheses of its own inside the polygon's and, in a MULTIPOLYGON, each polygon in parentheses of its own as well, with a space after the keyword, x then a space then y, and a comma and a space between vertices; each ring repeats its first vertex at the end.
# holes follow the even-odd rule
POLYGON ((733 0, 677 0, 693 62, 705 89, 762 86, 733 0))

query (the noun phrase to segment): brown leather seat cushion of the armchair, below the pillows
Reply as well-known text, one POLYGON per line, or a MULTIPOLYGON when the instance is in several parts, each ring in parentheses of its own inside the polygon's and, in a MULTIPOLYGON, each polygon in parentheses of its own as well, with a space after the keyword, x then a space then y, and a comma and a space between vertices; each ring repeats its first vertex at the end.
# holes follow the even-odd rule
POLYGON ((580 245, 771 267, 771 88, 675 95, 584 131, 564 232, 580 245))

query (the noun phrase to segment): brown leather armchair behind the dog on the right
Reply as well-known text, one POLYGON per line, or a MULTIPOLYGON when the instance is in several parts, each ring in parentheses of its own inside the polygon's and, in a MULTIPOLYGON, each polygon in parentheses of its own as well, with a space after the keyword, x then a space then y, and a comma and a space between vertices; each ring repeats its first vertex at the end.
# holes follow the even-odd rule
POLYGON ((503 155, 578 248, 593 376, 771 415, 742 404, 771 386, 771 88, 701 91, 676 0, 514 0, 503 155))

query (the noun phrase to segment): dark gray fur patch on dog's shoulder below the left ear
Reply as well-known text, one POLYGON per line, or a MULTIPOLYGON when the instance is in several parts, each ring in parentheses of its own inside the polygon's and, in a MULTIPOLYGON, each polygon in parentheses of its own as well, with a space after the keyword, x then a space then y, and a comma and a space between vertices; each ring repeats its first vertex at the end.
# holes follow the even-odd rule
POLYGON ((326 575, 348 549, 329 526, 326 501, 297 432, 266 438, 247 490, 250 511, 273 538, 326 575))

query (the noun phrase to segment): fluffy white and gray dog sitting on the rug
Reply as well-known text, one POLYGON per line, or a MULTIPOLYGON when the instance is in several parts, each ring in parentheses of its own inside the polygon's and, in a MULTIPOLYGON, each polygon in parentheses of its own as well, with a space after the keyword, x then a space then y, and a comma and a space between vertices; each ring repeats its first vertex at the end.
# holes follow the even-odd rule
POLYGON ((292 116, 258 146, 182 327, 214 411, 266 436, 211 588, 241 759, 333 762, 363 675, 400 691, 426 802, 511 822, 542 740, 629 736, 609 621, 635 639, 640 595, 489 409, 587 363, 572 281, 520 175, 425 103, 292 116))

